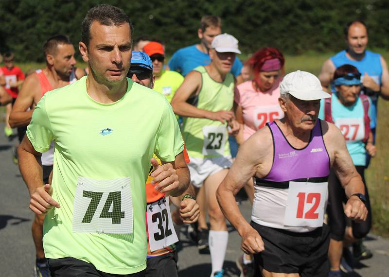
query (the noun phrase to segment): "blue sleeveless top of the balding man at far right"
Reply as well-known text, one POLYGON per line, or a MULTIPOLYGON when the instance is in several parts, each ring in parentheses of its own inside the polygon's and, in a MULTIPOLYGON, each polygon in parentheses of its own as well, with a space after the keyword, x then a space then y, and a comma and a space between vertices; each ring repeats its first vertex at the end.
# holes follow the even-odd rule
MULTIPOLYGON (((365 73, 368 73, 375 83, 381 85, 382 66, 380 54, 366 50, 365 56, 362 60, 354 61, 349 59, 346 55, 346 50, 343 50, 338 52, 330 59, 334 63, 335 68, 338 68, 345 64, 349 64, 356 67, 358 71, 362 74, 361 82, 363 81, 363 75, 365 75, 365 73)), ((331 87, 332 91, 335 92, 334 85, 331 85, 331 87)), ((362 87, 362 92, 371 97, 371 101, 373 104, 371 107, 371 109, 373 109, 372 117, 374 118, 374 121, 376 121, 378 94, 376 92, 371 91, 370 89, 367 89, 366 87, 362 87)))

